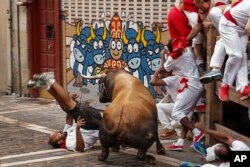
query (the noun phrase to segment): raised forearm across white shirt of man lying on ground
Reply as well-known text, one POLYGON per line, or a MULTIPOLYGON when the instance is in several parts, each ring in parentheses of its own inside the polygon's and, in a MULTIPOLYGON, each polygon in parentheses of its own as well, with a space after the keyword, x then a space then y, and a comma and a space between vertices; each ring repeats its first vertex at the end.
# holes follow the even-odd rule
POLYGON ((81 126, 85 125, 85 120, 84 118, 81 118, 80 116, 77 118, 77 123, 76 123, 76 147, 75 150, 82 152, 84 150, 84 140, 82 137, 82 133, 80 131, 81 126))

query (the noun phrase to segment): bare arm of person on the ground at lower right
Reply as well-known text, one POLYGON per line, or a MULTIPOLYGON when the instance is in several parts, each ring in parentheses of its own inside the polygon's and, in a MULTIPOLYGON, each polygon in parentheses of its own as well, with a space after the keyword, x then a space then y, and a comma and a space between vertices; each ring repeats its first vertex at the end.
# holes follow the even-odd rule
POLYGON ((215 139, 229 145, 232 146, 233 141, 235 140, 232 136, 227 135, 225 133, 216 131, 216 130, 211 130, 208 129, 206 130, 206 133, 209 134, 211 137, 214 137, 215 139))

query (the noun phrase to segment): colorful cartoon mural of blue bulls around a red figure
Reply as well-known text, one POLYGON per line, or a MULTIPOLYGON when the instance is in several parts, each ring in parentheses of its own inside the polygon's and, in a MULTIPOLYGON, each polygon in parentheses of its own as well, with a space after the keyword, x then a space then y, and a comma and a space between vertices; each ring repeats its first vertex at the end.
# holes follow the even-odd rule
POLYGON ((121 19, 114 13, 110 20, 93 20, 88 26, 78 21, 75 30, 69 56, 73 86, 96 84, 95 80, 88 81, 80 74, 96 75, 104 69, 126 68, 156 97, 156 90, 149 82, 160 65, 160 52, 164 47, 159 27, 153 31, 142 22, 133 22, 129 16, 121 19))

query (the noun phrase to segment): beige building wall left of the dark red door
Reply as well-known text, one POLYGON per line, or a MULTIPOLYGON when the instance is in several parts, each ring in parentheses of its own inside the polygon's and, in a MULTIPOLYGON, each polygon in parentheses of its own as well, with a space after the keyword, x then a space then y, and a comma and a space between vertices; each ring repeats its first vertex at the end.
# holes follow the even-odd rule
POLYGON ((0 5, 0 92, 28 94, 27 8, 18 0, 2 0, 0 5), (19 9, 18 9, 19 8, 19 9), (18 11, 19 10, 19 11, 18 11))

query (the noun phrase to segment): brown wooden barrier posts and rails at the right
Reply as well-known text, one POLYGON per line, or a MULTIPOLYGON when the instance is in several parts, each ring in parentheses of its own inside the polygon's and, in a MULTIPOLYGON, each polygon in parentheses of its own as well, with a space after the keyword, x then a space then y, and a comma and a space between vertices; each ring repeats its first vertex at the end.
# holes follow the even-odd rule
MULTIPOLYGON (((212 23, 206 23, 206 62, 207 69, 209 68, 210 60, 213 54, 214 46, 217 40, 218 32, 212 25, 212 23)), ((250 43, 248 43, 250 48, 250 43)), ((250 52, 250 51, 249 51, 250 52)), ((218 131, 227 133, 236 139, 239 139, 246 144, 250 145, 250 138, 241 135, 225 126, 223 126, 223 102, 218 98, 218 88, 221 81, 212 81, 205 85, 206 88, 206 116, 205 116, 205 127, 209 129, 216 129, 218 131)), ((235 91, 234 87, 229 89, 230 101, 235 102, 239 105, 250 108, 250 99, 245 101, 240 100, 240 95, 235 91)), ((209 135, 206 136, 206 145, 212 145, 215 140, 209 135)))

